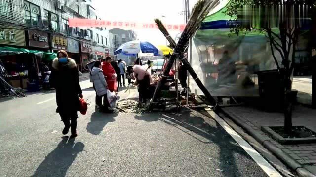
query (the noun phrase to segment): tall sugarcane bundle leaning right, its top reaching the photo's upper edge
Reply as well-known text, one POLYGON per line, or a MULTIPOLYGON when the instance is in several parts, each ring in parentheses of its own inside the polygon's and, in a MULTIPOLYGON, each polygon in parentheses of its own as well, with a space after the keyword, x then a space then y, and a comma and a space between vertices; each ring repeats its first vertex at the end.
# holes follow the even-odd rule
MULTIPOLYGON (((166 76, 168 76, 168 73, 173 65, 174 60, 176 59, 176 57, 178 57, 178 54, 183 52, 185 44, 194 35, 194 33, 197 31, 197 29, 199 29, 200 23, 202 22, 202 20, 204 20, 204 18, 208 14, 208 12, 212 8, 214 8, 216 5, 218 5, 218 3, 219 3, 219 0, 214 0, 214 1, 212 1, 212 0, 199 0, 199 1, 197 1, 196 5, 193 8, 190 19, 189 19, 185 29, 183 30, 181 36, 180 36, 179 42, 174 47, 173 54, 171 55, 171 57, 168 61, 167 67, 162 74, 161 80, 158 82, 158 85, 157 85, 157 88, 155 90, 152 101, 155 101, 157 91, 160 91, 160 87, 161 87, 162 83, 165 83, 166 76)), ((159 29, 162 29, 162 32, 164 34, 168 34, 168 31, 163 27, 162 23, 157 24, 157 25, 158 25, 159 29), (159 25, 160 25, 160 27, 159 27, 159 25)))

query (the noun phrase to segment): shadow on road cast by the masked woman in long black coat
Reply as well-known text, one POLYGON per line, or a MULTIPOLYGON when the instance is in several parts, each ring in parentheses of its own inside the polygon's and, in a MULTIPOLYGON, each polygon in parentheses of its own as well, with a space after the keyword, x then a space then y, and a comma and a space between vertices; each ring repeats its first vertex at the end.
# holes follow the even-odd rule
POLYGON ((74 162, 77 154, 84 149, 81 142, 75 143, 75 139, 62 137, 63 140, 50 152, 40 166, 36 169, 33 177, 65 177, 68 168, 74 162), (67 142, 68 140, 68 142, 67 142))

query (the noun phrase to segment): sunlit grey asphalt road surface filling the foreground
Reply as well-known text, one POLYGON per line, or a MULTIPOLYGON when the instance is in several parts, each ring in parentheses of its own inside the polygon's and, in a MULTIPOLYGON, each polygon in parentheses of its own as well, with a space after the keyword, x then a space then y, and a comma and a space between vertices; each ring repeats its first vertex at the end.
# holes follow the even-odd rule
POLYGON ((268 176, 212 118, 189 110, 102 114, 91 84, 81 87, 91 104, 76 139, 62 137, 54 91, 0 102, 1 177, 268 176))

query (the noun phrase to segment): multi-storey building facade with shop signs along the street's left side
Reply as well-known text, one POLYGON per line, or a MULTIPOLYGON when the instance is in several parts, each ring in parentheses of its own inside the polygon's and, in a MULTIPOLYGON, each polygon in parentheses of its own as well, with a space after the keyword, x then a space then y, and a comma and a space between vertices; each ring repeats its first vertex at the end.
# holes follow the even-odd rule
POLYGON ((91 0, 0 0, 0 46, 66 50, 79 70, 91 60, 110 55, 109 30, 69 27, 69 18, 99 19, 91 0), (12 36, 18 42, 10 42, 12 36))

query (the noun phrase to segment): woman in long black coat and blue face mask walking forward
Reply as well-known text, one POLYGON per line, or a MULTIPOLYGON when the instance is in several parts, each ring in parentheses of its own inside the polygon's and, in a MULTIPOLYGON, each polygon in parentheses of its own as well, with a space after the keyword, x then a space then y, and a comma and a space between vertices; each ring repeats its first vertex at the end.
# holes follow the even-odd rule
POLYGON ((56 89, 56 112, 65 124, 63 134, 66 135, 71 128, 70 138, 74 138, 77 136, 79 97, 83 98, 76 61, 69 58, 66 51, 61 50, 57 52, 52 68, 49 82, 56 89))

